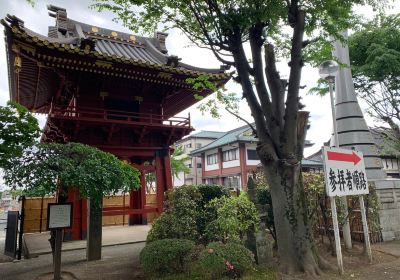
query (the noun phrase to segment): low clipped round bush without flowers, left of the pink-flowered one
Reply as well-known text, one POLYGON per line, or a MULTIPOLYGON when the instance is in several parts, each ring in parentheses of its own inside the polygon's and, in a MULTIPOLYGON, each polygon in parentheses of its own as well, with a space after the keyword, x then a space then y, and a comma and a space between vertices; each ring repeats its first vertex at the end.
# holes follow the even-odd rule
POLYGON ((156 240, 140 252, 140 264, 146 273, 155 276, 184 272, 195 256, 195 248, 190 240, 156 240))

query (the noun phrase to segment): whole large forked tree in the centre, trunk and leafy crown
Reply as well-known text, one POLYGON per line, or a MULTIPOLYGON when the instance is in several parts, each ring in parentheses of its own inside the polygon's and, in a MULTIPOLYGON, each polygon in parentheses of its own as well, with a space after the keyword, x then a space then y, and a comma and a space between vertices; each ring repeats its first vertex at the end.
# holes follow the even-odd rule
MULTIPOLYGON (((254 118, 257 152, 271 186, 281 267, 288 273, 314 275, 320 272, 321 261, 313 251, 300 180, 308 118, 299 112, 301 69, 306 61, 321 57, 329 38, 340 37, 340 31, 354 25, 354 5, 380 8, 385 3, 95 0, 94 7, 113 11, 134 31, 151 31, 159 23, 178 28, 194 44, 209 48, 219 61, 235 68, 233 79, 241 85, 254 118), (277 67, 282 56, 289 60, 287 78, 277 67)), ((204 79, 199 77, 199 82, 204 79)))

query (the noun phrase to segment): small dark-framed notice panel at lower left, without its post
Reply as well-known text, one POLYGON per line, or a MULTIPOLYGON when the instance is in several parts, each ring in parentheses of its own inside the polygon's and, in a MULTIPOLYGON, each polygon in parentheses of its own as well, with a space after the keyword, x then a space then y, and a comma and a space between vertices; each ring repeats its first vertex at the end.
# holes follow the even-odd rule
POLYGON ((72 226, 72 203, 49 203, 47 207, 47 228, 49 230, 72 226))

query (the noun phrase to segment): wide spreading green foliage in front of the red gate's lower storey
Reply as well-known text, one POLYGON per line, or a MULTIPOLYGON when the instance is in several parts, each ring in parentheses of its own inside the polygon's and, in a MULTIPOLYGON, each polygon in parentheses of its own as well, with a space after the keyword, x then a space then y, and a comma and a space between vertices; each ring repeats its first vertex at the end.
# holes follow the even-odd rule
POLYGON ((105 195, 140 186, 139 172, 114 155, 79 143, 39 144, 5 169, 5 182, 29 195, 44 196, 75 187, 101 205, 105 195))

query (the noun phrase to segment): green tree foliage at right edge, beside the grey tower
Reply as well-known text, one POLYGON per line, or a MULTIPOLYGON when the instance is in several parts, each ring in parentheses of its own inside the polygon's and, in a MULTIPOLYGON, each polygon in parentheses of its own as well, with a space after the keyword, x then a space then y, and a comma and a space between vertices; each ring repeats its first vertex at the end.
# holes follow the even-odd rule
POLYGON ((350 65, 368 113, 391 128, 400 149, 400 15, 379 15, 349 37, 350 65))

